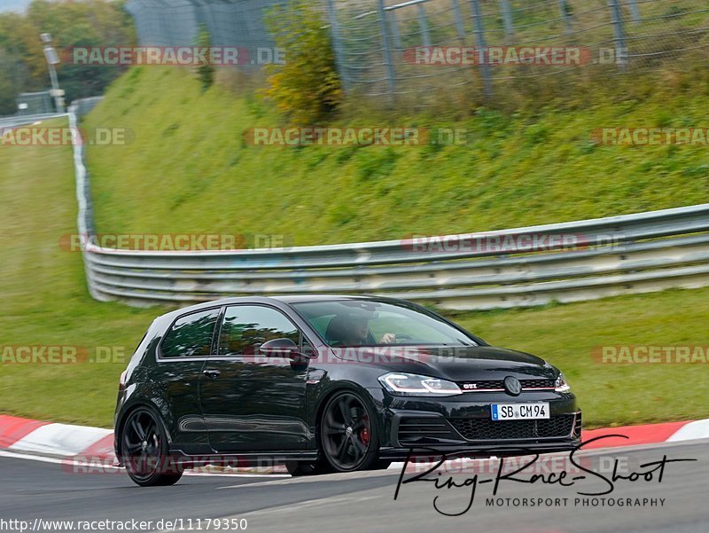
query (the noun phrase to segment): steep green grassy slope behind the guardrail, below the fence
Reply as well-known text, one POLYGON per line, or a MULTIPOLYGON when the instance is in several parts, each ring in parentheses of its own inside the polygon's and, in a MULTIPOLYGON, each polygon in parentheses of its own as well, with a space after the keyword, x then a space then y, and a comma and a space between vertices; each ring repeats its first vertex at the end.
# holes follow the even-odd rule
POLYGON ((577 111, 481 110, 460 121, 372 114, 335 124, 465 128, 468 145, 286 148, 242 141, 245 129, 279 123, 260 99, 219 86, 202 93, 178 69, 136 68, 86 123, 135 136, 127 146, 90 147, 97 230, 270 233, 305 245, 701 203, 707 146, 589 140, 601 127, 706 126, 706 85, 678 93, 679 84, 651 86, 643 99, 608 90, 577 111))

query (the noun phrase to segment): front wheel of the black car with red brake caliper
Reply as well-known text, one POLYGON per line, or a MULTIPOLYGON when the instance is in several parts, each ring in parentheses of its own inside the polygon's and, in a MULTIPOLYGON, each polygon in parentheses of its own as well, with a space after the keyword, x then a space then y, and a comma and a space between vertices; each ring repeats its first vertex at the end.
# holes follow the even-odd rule
POLYGON ((378 465, 379 435, 374 413, 356 392, 328 400, 320 420, 323 461, 334 472, 370 470, 378 465))

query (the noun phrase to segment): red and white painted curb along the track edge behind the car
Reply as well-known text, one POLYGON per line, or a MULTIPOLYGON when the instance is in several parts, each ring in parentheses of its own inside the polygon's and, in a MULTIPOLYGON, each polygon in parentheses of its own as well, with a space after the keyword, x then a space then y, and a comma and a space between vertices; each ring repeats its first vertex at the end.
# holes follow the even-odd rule
MULTIPOLYGON (((583 432, 582 440, 602 436, 607 438, 585 445, 584 450, 705 439, 709 438, 709 419, 591 429, 583 432), (607 435, 625 435, 627 438, 607 435)), ((113 465, 115 461, 111 429, 42 422, 7 415, 0 415, 0 450, 90 464, 113 465)), ((234 470, 254 471, 249 468, 234 470)), ((257 468, 255 471, 259 474, 273 474, 282 473, 284 469, 274 466, 257 468)))

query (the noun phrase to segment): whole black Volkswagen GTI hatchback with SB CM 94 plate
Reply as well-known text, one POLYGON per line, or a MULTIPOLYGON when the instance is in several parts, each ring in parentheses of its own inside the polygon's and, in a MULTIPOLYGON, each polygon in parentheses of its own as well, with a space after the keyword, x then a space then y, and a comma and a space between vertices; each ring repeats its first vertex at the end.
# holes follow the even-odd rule
POLYGON ((277 459, 291 474, 564 451, 581 414, 564 375, 414 303, 229 298, 158 317, 121 375, 115 451, 139 485, 189 466, 277 459))

